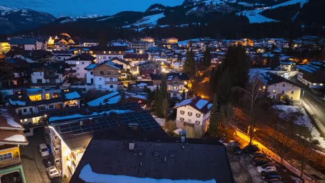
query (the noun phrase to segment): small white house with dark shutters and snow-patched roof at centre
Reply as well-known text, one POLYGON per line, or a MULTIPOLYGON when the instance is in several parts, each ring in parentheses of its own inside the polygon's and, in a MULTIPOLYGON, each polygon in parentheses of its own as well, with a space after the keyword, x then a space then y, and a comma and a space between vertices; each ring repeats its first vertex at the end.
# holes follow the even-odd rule
POLYGON ((201 135, 208 130, 210 121, 210 110, 212 103, 197 98, 189 98, 175 105, 176 127, 177 128, 193 128, 195 135, 201 135))

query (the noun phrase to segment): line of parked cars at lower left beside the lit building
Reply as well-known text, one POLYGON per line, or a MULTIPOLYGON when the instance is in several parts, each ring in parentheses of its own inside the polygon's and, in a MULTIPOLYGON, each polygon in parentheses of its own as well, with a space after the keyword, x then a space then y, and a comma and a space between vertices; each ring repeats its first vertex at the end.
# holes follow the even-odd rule
POLYGON ((58 172, 58 169, 56 169, 53 160, 51 160, 50 153, 49 153, 50 150, 47 147, 47 144, 41 143, 38 146, 38 150, 40 151, 41 157, 46 157, 43 159, 43 164, 45 168, 47 168, 47 175, 49 175, 50 179, 53 177, 59 177, 60 174, 58 172))

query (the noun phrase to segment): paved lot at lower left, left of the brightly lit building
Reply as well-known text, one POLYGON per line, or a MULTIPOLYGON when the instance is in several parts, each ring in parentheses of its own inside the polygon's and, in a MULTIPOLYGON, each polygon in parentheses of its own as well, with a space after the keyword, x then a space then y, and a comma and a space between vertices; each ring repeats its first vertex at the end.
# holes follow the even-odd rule
POLYGON ((49 179, 47 169, 45 168, 38 150, 40 143, 45 143, 44 128, 35 128, 32 137, 27 137, 28 146, 21 146, 20 153, 22 158, 22 166, 28 183, 32 182, 58 182, 59 178, 49 179))

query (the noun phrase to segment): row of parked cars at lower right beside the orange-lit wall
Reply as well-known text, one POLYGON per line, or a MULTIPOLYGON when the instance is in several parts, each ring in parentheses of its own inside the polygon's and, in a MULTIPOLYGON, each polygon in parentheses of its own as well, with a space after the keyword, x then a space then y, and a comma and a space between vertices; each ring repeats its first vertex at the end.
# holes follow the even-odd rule
POLYGON ((252 158, 251 164, 257 166, 256 171, 260 173, 261 177, 267 182, 281 182, 282 177, 278 175, 276 166, 270 163, 269 159, 267 159, 267 156, 264 153, 258 153, 258 151, 260 151, 258 146, 250 144, 241 149, 238 141, 231 140, 226 143, 225 141, 221 140, 220 142, 222 142, 228 148, 232 148, 234 155, 242 155, 243 153, 249 154, 252 158))

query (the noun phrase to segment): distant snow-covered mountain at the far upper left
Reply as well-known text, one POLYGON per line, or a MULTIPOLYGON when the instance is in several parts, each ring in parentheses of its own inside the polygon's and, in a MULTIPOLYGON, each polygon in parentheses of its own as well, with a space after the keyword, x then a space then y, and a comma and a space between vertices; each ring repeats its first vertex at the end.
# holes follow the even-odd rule
POLYGON ((9 34, 19 30, 36 28, 55 19, 56 17, 47 12, 0 6, 0 33, 9 34))

